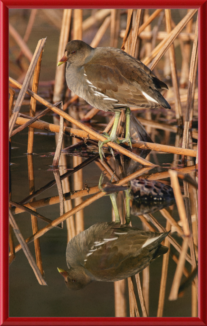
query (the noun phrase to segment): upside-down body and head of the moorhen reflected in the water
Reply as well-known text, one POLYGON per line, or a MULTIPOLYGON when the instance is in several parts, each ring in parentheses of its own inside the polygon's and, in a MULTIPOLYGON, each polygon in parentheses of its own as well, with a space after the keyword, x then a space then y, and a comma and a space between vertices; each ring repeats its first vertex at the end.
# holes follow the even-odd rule
POLYGON ((98 222, 68 242, 68 270, 58 268, 58 271, 70 290, 83 289, 92 281, 122 280, 139 273, 168 251, 161 242, 169 232, 98 222))

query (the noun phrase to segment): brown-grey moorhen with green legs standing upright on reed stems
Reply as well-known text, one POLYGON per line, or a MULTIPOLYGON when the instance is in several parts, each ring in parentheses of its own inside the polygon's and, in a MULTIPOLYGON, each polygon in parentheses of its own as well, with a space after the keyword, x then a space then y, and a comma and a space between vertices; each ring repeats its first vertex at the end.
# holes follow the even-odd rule
POLYGON ((115 112, 115 120, 110 136, 99 142, 99 154, 102 146, 115 141, 127 142, 130 147, 130 109, 158 108, 171 109, 159 90, 168 89, 155 74, 140 60, 128 53, 112 48, 92 48, 81 40, 67 43, 64 56, 57 66, 67 62, 66 82, 68 88, 86 102, 103 111, 115 112), (126 109, 126 137, 119 141, 116 135, 121 110, 126 109))

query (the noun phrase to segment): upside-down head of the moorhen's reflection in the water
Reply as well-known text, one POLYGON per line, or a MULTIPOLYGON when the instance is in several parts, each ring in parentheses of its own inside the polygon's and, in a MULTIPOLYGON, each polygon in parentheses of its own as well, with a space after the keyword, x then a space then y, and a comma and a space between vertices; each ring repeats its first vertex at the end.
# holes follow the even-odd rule
POLYGON ((64 277, 66 286, 70 290, 81 290, 92 282, 92 279, 80 269, 69 269, 67 271, 62 268, 57 269, 58 272, 64 277))

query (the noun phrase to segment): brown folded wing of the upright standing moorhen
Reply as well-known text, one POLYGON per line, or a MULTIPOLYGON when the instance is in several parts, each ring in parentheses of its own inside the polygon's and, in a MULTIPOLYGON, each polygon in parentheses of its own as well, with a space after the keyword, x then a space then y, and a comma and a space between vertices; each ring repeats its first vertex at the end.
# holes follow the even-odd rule
MULTIPOLYGON (((101 93, 118 100, 120 104, 170 108, 158 91, 158 88, 167 88, 167 85, 159 81, 139 60, 133 57, 133 60, 129 60, 127 54, 123 53, 125 52, 108 51, 106 56, 101 58, 101 63, 96 58, 86 63, 84 72, 88 81, 93 82, 93 86, 101 93), (146 94, 148 98, 145 97, 146 94), (152 100, 149 100, 149 97, 152 100)), ((114 107, 118 105, 114 104, 114 107)))

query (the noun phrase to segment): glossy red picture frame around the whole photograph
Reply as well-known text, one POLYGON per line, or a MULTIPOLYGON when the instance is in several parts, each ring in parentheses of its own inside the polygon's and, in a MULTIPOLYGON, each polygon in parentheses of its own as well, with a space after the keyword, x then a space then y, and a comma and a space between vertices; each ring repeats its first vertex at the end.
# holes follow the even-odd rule
POLYGON ((3 0, 0 12, 0 325, 207 325, 207 1, 204 0, 3 0), (8 317, 8 10, 9 8, 198 8, 199 9, 199 317, 14 318, 8 317))

